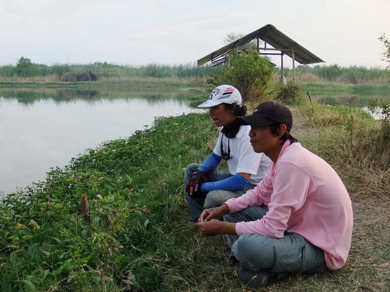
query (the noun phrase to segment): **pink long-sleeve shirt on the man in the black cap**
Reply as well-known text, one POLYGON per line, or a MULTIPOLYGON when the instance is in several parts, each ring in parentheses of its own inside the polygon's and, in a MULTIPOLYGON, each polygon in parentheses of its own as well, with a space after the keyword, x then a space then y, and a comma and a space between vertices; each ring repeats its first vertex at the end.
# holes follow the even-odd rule
POLYGON ((266 205, 259 220, 239 222, 238 235, 283 237, 284 230, 305 237, 324 251, 331 270, 344 266, 351 248, 351 199, 334 169, 323 159, 287 140, 276 163, 253 190, 226 202, 231 213, 266 205))

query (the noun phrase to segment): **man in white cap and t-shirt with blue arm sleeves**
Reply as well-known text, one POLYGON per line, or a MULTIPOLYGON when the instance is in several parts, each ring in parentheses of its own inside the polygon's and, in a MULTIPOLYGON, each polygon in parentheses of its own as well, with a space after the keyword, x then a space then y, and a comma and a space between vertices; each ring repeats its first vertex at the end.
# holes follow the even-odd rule
POLYGON ((214 125, 222 127, 213 152, 202 162, 187 166, 184 176, 186 197, 194 222, 204 208, 220 206, 232 197, 253 189, 266 175, 271 163, 263 153, 253 151, 249 142, 250 126, 235 123, 246 115, 239 91, 231 85, 217 86, 200 108, 209 108, 214 125), (217 169, 225 160, 229 172, 217 169))

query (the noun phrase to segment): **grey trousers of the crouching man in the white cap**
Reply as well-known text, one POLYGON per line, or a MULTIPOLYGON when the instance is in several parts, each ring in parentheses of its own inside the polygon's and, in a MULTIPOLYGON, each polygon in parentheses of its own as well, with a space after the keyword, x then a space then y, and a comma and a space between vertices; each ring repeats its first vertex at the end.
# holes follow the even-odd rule
MULTIPOLYGON (((191 163, 187 166, 186 171, 184 173, 184 186, 187 186, 187 184, 191 180, 192 174, 199 166, 200 164, 197 163, 191 163)), ((205 175, 209 182, 221 181, 232 176, 232 174, 230 174, 229 172, 221 171, 218 169, 214 169, 210 172, 207 172, 205 175)), ((186 194, 187 203, 191 212, 192 220, 196 222, 204 209, 221 206, 228 199, 233 197, 239 197, 240 195, 245 194, 247 190, 253 189, 254 187, 255 185, 249 183, 248 187, 242 191, 232 192, 224 190, 215 190, 207 194, 198 196, 196 198, 193 198, 189 194, 186 194)))

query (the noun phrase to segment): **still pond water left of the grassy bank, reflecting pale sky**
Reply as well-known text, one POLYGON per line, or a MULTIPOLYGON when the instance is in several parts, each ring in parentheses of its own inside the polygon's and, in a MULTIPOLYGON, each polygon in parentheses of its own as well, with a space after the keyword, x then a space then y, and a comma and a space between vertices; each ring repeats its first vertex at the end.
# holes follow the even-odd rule
POLYGON ((195 111, 188 97, 201 93, 0 89, 0 195, 43 181, 87 148, 151 127, 155 117, 195 111))

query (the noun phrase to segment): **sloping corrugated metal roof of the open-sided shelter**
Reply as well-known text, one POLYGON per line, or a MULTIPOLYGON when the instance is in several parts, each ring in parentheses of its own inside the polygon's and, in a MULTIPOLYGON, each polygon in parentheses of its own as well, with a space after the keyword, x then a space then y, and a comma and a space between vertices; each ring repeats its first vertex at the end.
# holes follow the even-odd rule
MULTIPOLYGON (((226 61, 225 54, 228 50, 233 48, 238 48, 253 39, 261 39, 265 43, 264 48, 257 48, 259 51, 262 50, 267 52, 267 50, 278 50, 281 54, 285 54, 297 61, 300 64, 314 64, 324 62, 309 50, 305 49, 303 46, 298 44, 296 41, 289 38, 284 33, 278 31, 273 25, 268 24, 257 31, 251 32, 234 42, 212 52, 211 54, 204 56, 203 58, 197 60, 197 65, 201 66, 206 64, 207 62, 212 62, 213 65, 218 65, 226 61), (267 48, 267 44, 273 46, 273 48, 267 48)), ((266 54, 266 53, 260 53, 266 54)))

